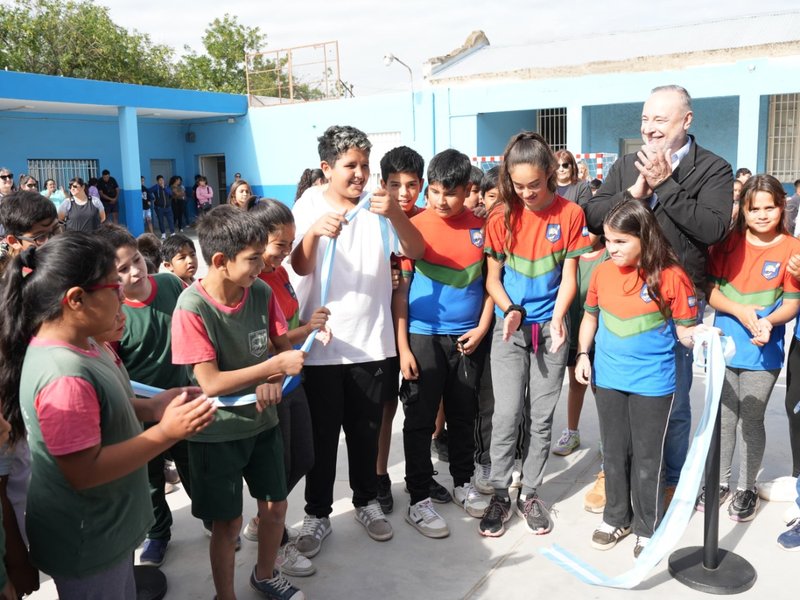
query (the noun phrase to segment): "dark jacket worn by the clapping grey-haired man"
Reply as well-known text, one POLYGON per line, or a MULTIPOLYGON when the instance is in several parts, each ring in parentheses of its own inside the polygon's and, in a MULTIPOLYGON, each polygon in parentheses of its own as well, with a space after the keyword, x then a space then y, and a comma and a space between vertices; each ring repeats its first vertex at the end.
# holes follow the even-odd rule
MULTIPOLYGON (((689 137, 689 153, 672 177, 654 190, 658 202, 653 214, 702 295, 708 247, 727 235, 731 221, 733 169, 725 159, 698 145, 694 136, 689 137)), ((592 233, 603 233, 603 219, 636 182, 636 160, 636 154, 627 154, 615 162, 597 194, 584 206, 592 233)))

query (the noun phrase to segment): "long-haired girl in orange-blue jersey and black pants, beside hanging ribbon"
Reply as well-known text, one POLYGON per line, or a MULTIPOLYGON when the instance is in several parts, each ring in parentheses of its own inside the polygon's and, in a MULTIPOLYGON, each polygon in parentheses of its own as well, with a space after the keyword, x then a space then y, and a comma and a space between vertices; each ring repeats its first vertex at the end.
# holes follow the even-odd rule
POLYGON ((603 230, 610 260, 592 274, 575 365, 578 382, 594 380, 603 444, 606 504, 592 546, 613 548, 632 529, 638 557, 664 505, 673 349, 676 334, 684 346, 693 345, 697 299, 653 213, 640 201, 620 202, 603 230))

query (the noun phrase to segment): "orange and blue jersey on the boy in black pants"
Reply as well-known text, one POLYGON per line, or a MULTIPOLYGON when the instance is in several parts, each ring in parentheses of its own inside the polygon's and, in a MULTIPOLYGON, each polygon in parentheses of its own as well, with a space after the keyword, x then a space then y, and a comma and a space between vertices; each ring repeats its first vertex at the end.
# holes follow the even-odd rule
POLYGON ((426 210, 411 219, 425 240, 425 254, 403 258, 413 270, 408 291, 408 330, 423 335, 461 335, 478 326, 483 307, 483 220, 464 210, 443 219, 426 210))

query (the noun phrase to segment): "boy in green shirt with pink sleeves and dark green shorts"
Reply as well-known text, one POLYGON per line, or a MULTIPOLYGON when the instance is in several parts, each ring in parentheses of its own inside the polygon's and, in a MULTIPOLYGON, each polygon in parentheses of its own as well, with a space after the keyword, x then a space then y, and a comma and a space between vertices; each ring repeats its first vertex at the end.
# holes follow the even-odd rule
POLYGON ((212 521, 211 573, 218 598, 234 598, 234 552, 242 526, 242 478, 258 503, 258 561, 250 587, 267 598, 305 596, 274 569, 286 516, 283 442, 275 404, 284 375, 297 375, 304 353, 292 350, 270 287, 258 278, 267 233, 258 219, 224 205, 198 222, 208 274, 187 288, 172 321, 172 356, 188 365, 209 396, 255 394, 254 403, 222 407, 191 438, 192 514, 212 521), (272 342, 279 352, 268 358, 272 342))

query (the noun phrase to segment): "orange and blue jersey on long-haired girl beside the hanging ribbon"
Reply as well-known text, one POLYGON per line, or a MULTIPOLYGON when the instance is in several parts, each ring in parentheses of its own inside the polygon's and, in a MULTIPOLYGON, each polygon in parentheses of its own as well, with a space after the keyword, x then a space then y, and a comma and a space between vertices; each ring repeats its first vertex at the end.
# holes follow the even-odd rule
POLYGON ((694 325, 697 298, 689 276, 678 267, 661 273, 660 295, 669 307, 669 322, 634 267, 611 261, 592 274, 584 309, 599 313, 595 336, 595 384, 642 396, 675 392, 673 323, 694 325))

